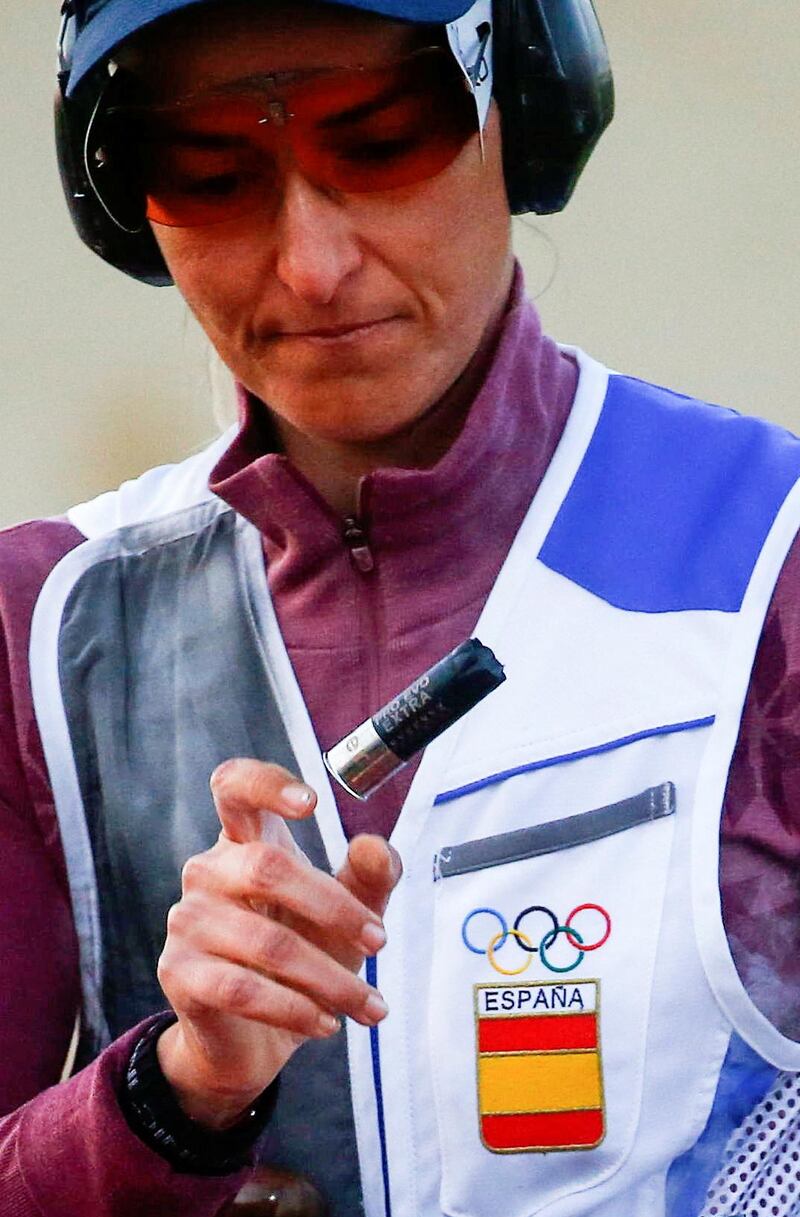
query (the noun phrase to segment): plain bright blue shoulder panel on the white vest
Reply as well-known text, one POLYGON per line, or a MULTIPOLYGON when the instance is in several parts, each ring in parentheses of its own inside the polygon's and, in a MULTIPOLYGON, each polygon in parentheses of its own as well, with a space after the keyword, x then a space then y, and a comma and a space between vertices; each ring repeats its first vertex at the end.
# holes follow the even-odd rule
POLYGON ((788 431, 612 376, 539 557, 619 608, 737 612, 799 476, 788 431))

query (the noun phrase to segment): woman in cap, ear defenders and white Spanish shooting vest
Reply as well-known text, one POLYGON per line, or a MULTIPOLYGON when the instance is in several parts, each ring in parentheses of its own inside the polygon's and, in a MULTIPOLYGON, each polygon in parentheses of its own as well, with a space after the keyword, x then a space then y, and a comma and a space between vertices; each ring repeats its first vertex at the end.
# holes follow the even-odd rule
POLYGON ((699 1213, 791 1086, 791 957, 740 891, 791 882, 762 689, 800 445, 543 337, 508 195, 565 201, 608 80, 589 6, 510 16, 67 13, 82 232, 175 281, 242 419, 4 540, 4 914, 51 960, 4 1028, 11 1212, 213 1213, 264 1132, 334 1213, 699 1213), (539 47, 535 156, 492 33, 539 47), (334 789, 320 748, 474 630, 503 689, 367 807, 334 789), (79 1003, 86 1067, 39 1093, 79 1003))

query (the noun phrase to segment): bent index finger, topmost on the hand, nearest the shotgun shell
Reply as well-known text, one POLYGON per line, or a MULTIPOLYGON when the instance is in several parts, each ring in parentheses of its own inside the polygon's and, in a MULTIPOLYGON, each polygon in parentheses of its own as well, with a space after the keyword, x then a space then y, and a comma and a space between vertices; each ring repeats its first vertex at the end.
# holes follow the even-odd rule
POLYGON ((289 769, 264 761, 236 757, 217 765, 211 792, 229 841, 261 841, 265 813, 290 820, 311 815, 317 795, 289 769))

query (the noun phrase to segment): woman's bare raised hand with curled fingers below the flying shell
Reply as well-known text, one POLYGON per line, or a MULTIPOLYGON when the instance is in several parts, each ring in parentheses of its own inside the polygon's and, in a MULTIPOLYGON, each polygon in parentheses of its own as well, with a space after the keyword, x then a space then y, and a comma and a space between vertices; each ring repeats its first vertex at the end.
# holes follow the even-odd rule
POLYGON ((226 761, 211 787, 222 832, 184 867, 167 920, 158 980, 178 1022, 158 1060, 186 1114, 224 1128, 300 1044, 335 1034, 339 1016, 385 1016, 356 974, 386 941, 401 864, 382 837, 358 836, 335 879, 312 867, 284 821, 317 797, 279 765, 226 761))

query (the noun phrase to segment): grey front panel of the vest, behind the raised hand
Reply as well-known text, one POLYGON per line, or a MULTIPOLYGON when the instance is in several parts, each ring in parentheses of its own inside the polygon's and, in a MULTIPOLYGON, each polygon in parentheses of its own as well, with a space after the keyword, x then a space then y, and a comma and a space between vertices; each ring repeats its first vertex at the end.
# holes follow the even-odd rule
MULTIPOLYGON (((250 756, 298 768, 250 610, 242 531, 217 504, 125 529, 122 553, 91 566, 66 605, 60 679, 113 1037, 167 1004, 156 964, 181 868, 219 834, 214 767, 250 756)), ((330 870, 315 821, 292 830, 330 870)), ((363 1211, 343 1033, 303 1045, 284 1070, 262 1157, 312 1178, 336 1217, 363 1211)))

